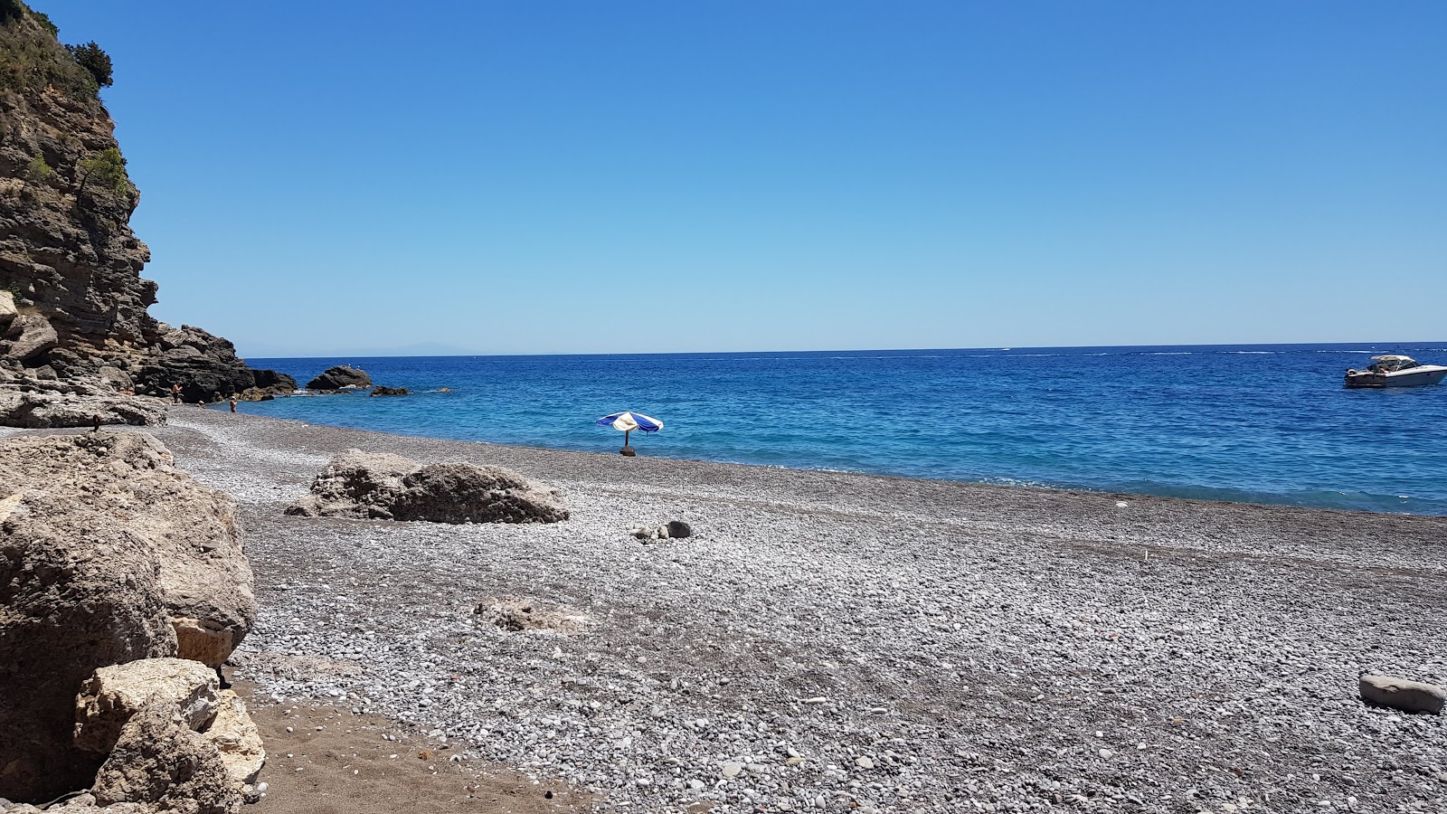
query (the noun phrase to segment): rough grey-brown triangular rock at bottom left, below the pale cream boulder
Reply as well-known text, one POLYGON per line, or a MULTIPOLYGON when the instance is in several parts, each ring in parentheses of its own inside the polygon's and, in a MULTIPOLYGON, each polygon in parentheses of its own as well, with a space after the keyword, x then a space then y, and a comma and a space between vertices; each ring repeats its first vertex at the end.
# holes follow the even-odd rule
POLYGON ((174 704, 136 713, 91 786, 96 802, 140 802, 175 814, 236 814, 242 792, 221 752, 191 731, 174 704))

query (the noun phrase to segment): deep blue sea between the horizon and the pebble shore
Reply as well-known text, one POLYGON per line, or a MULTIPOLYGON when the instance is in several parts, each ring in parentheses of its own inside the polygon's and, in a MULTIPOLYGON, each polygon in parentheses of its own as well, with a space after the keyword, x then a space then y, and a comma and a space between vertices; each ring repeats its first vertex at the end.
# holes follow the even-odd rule
POLYGON ((1447 382, 1344 390, 1373 353, 1447 364, 1447 342, 250 359, 451 393, 240 410, 595 452, 622 433, 593 420, 634 410, 666 424, 640 455, 1447 514, 1447 382))

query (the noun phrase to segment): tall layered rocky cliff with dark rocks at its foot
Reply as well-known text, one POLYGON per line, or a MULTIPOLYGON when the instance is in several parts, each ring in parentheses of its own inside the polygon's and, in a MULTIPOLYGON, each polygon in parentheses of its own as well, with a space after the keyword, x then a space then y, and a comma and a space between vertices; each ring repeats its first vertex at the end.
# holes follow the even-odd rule
POLYGON ((226 339, 146 311, 150 251, 129 226, 140 193, 100 101, 100 54, 103 74, 45 14, 0 0, 0 385, 169 395, 179 384, 187 401, 295 388, 226 339))

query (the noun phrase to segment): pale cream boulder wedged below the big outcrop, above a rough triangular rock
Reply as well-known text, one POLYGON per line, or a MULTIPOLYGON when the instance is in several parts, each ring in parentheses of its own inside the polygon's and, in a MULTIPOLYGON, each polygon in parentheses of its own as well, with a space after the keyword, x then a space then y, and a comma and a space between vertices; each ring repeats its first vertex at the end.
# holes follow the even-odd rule
POLYGON ((100 668, 75 698, 75 746, 109 755, 122 727, 156 702, 174 705, 188 727, 200 730, 220 710, 218 689, 216 671, 191 659, 142 659, 100 668))

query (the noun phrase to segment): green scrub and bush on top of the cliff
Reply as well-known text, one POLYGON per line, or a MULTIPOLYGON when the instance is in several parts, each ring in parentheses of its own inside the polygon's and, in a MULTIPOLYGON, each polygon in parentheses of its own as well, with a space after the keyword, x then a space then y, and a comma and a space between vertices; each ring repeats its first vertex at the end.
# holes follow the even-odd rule
POLYGON ((111 62, 94 42, 61 45, 48 16, 20 0, 0 0, 0 88, 54 88, 78 101, 100 98, 111 84, 111 62))

